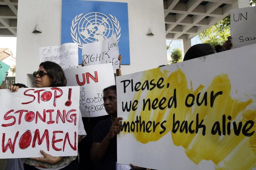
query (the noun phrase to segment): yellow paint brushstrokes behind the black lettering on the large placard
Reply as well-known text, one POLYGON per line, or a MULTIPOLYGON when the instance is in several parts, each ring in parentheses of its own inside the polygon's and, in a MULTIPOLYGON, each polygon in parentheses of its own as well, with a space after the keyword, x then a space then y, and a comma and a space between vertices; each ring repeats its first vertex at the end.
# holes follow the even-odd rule
MULTIPOLYGON (((237 116, 241 116, 243 112, 243 119, 240 120, 244 123, 247 120, 256 121, 256 111, 249 110, 246 111, 246 107, 252 104, 253 100, 249 99, 247 101, 238 101, 232 99, 230 96, 231 84, 228 79, 228 75, 221 74, 213 78, 212 83, 204 89, 203 85, 199 85, 196 90, 193 90, 192 82, 190 81, 190 89, 188 88, 188 82, 185 74, 180 70, 176 70, 170 73, 167 70, 163 72, 161 69, 154 69, 144 72, 140 82, 150 80, 152 78, 164 78, 164 82, 170 83, 170 87, 166 90, 155 88, 154 90, 147 92, 146 96, 142 97, 142 91, 135 92, 133 101, 142 101, 143 98, 151 99, 151 102, 155 98, 166 97, 167 100, 173 95, 173 89, 176 88, 177 96, 177 108, 167 107, 164 110, 156 109, 148 111, 143 111, 142 109, 137 109, 136 111, 130 111, 128 119, 125 122, 132 122, 136 120, 136 115, 141 116, 142 120, 145 122, 155 121, 167 122, 164 124, 166 131, 163 134, 159 134, 162 131, 160 126, 157 126, 155 133, 151 131, 146 132, 130 132, 133 133, 135 139, 143 144, 148 142, 154 142, 159 140, 161 137, 166 135, 172 130, 173 113, 175 113, 175 120, 179 120, 180 123, 183 120, 187 120, 188 123, 192 120, 194 121, 192 129, 196 127, 196 114, 199 113, 199 122, 204 119, 204 125, 206 125, 206 135, 202 135, 202 130, 199 129, 198 133, 186 134, 185 132, 180 133, 177 131, 175 134, 171 133, 173 144, 176 146, 182 146, 185 149, 185 153, 188 158, 191 159, 195 164, 199 164, 201 160, 211 160, 215 165, 216 169, 252 169, 256 166, 256 137, 255 134, 252 137, 245 137, 242 132, 239 136, 236 136, 231 130, 230 136, 220 137, 218 134, 212 135, 211 129, 215 121, 220 122, 220 129, 222 131, 222 115, 230 115, 232 120, 231 124, 237 116), (214 100, 213 107, 210 107, 210 94, 211 91, 214 93, 222 91, 223 94, 217 96, 214 100), (185 106, 185 99, 189 93, 196 95, 201 92, 200 100, 203 98, 204 92, 207 92, 207 106, 204 103, 201 106, 194 104, 193 107, 185 106), (241 159, 242 158, 242 159, 241 159)), ((236 91, 237 92, 237 91, 236 91)), ((190 100, 191 101, 191 100, 190 100)), ((240 122, 237 121, 237 124, 240 122)), ((226 125, 228 120, 226 120, 226 125)), ((232 126, 232 125, 231 125, 232 126)), ((202 129, 202 128, 201 128, 202 129)), ((252 130, 256 130, 256 126, 253 126, 252 130)), ((125 135, 127 132, 123 131, 125 135)))

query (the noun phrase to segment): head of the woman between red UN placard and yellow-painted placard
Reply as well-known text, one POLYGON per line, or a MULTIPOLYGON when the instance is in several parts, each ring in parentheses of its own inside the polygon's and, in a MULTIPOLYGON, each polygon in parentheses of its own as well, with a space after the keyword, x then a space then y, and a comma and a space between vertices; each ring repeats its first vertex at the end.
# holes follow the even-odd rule
POLYGON ((117 116, 116 85, 103 89, 104 107, 108 115, 117 116))

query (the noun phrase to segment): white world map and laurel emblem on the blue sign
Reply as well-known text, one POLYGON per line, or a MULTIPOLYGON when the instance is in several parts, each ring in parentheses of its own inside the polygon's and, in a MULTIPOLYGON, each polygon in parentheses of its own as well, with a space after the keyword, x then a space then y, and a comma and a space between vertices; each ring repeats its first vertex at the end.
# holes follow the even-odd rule
POLYGON ((78 44, 80 49, 84 43, 103 41, 113 34, 116 35, 116 40, 119 42, 121 27, 115 16, 108 14, 108 17, 100 12, 83 14, 76 15, 70 26, 72 40, 78 44))

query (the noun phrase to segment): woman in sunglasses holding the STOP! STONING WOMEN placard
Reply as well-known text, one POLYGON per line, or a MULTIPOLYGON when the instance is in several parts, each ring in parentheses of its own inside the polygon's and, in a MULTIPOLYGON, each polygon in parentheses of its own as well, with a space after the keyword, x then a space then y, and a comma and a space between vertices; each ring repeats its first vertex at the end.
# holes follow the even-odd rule
MULTIPOLYGON (((38 71, 33 73, 36 78, 36 87, 61 87, 67 85, 67 80, 62 68, 53 62, 43 62, 39 65, 38 71)), ((17 91, 20 87, 24 87, 22 84, 14 84, 9 87, 12 92, 17 91)), ((78 122, 78 143, 82 140, 82 136, 85 136, 84 125, 82 122, 81 113, 79 110, 79 122, 78 122)), ((43 157, 40 158, 27 158, 22 159, 24 161, 25 170, 45 170, 51 168, 51 170, 76 170, 78 169, 78 159, 76 156, 70 157, 53 157, 40 151, 43 157)))

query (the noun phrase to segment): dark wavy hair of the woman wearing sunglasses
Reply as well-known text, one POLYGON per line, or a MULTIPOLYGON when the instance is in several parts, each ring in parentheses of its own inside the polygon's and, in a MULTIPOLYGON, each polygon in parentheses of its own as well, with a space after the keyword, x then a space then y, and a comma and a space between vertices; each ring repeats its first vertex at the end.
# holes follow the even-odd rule
POLYGON ((43 66, 47 71, 48 76, 50 77, 50 82, 52 83, 52 87, 61 87, 67 85, 67 79, 65 77, 64 71, 60 67, 59 64, 46 61, 39 65, 43 66))

